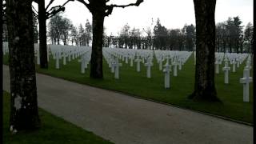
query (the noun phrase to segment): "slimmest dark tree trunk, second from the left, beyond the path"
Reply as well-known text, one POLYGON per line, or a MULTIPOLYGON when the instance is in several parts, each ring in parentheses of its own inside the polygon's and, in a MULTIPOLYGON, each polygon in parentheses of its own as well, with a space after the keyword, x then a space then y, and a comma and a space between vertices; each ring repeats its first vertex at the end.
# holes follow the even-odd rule
POLYGON ((38 22, 39 22, 39 51, 40 67, 48 68, 47 42, 46 42, 46 9, 45 0, 38 0, 38 22))

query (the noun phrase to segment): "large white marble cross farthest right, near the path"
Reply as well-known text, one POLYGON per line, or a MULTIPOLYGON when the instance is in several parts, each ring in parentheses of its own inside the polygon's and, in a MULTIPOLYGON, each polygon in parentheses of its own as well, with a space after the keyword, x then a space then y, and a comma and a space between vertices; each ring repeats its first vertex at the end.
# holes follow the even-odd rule
POLYGON ((253 78, 250 77, 250 69, 245 68, 243 70, 243 78, 240 78, 240 83, 243 84, 243 102, 249 102, 249 83, 253 82, 253 78))

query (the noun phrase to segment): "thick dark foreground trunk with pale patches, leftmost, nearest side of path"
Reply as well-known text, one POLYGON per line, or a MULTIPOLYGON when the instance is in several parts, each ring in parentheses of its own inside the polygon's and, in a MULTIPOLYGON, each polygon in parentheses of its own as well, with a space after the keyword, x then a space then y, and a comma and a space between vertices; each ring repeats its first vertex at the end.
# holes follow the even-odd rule
POLYGON ((6 0, 10 57, 10 130, 39 126, 32 0, 6 0))

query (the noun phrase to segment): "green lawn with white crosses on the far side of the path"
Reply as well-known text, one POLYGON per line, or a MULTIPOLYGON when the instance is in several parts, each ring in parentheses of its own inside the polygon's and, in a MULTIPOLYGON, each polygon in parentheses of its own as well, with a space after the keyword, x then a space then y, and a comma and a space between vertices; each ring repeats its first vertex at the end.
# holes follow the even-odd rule
MULTIPOLYGON (((4 62, 6 62, 6 56, 4 62)), ((133 67, 130 67, 130 62, 129 64, 122 62, 122 67, 120 67, 120 79, 118 80, 114 79, 114 74, 110 72, 110 68, 105 60, 103 61, 103 80, 90 78, 90 65, 88 65, 88 69, 86 69, 86 74, 81 74, 78 59, 67 62, 66 66, 61 65, 61 69, 56 70, 54 68, 55 61, 50 58, 48 70, 40 69, 38 66, 36 66, 36 69, 38 73, 49 74, 73 82, 115 90, 190 110, 198 110, 242 122, 253 123, 252 83, 250 83, 250 102, 242 102, 242 84, 239 83, 239 78, 242 78, 245 62, 237 68, 236 73, 230 72, 230 84, 224 84, 223 65, 220 66, 220 74, 215 74, 215 86, 218 98, 222 100, 222 103, 195 102, 187 98, 194 90, 195 66, 193 55, 191 55, 184 66, 182 66, 182 70, 178 70, 178 77, 171 76, 170 89, 168 90, 164 88, 164 74, 158 70, 158 63, 155 58, 154 66, 151 68, 152 78, 146 78, 146 67, 142 64, 141 72, 137 72, 135 62, 133 67)), ((250 71, 250 75, 251 74, 253 74, 252 70, 250 71)))

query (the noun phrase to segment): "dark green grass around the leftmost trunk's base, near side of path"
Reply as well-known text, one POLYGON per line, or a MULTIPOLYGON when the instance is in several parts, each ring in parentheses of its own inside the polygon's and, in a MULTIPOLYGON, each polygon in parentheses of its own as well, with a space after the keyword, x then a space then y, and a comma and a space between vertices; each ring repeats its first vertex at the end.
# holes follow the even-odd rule
POLYGON ((19 131, 18 134, 10 134, 10 94, 3 92, 3 143, 8 144, 103 144, 112 143, 97 135, 82 130, 62 118, 58 118, 45 110, 39 109, 39 117, 42 127, 39 130, 19 131))

